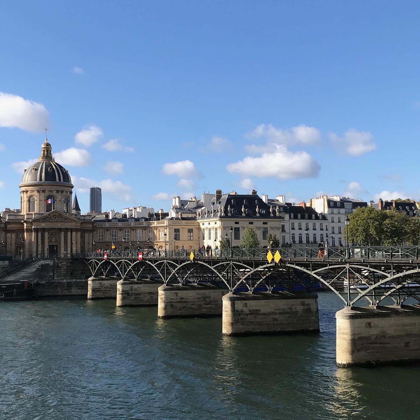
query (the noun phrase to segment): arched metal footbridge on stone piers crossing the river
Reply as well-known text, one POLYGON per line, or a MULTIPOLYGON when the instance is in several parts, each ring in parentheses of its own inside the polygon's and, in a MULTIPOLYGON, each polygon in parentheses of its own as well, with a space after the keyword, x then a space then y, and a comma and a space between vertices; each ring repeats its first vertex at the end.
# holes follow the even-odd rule
POLYGON ((319 332, 323 285, 344 306, 339 366, 420 361, 417 246, 95 252, 72 263, 92 274, 88 298, 157 305, 161 318, 221 314, 226 335, 319 332))

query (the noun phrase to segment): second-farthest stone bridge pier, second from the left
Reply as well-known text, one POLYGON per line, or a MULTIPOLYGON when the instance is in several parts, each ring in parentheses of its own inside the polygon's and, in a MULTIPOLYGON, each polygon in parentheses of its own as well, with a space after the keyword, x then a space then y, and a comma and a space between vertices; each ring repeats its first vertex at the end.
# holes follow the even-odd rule
POLYGON ((157 306, 160 282, 120 280, 117 283, 117 306, 157 306))

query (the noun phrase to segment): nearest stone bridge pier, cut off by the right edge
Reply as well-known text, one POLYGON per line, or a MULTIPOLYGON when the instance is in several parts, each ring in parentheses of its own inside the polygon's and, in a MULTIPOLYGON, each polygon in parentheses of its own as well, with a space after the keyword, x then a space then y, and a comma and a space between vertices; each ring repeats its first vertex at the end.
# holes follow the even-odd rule
POLYGON ((336 313, 341 367, 420 361, 420 306, 346 307, 336 313))

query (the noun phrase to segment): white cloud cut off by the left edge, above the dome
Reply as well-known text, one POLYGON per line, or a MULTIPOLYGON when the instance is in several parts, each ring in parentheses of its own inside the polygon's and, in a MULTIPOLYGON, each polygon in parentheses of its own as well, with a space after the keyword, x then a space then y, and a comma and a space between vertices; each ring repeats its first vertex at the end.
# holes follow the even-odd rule
POLYGON ((48 111, 41 103, 0 92, 0 127, 40 132, 47 119, 48 111))

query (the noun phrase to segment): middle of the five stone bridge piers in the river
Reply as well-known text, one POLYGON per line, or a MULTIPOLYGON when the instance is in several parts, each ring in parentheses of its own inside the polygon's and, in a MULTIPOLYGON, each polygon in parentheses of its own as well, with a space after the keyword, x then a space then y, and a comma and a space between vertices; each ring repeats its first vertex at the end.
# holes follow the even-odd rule
POLYGON ((227 292, 212 285, 162 285, 158 289, 157 316, 205 317, 222 314, 222 296, 227 292))

